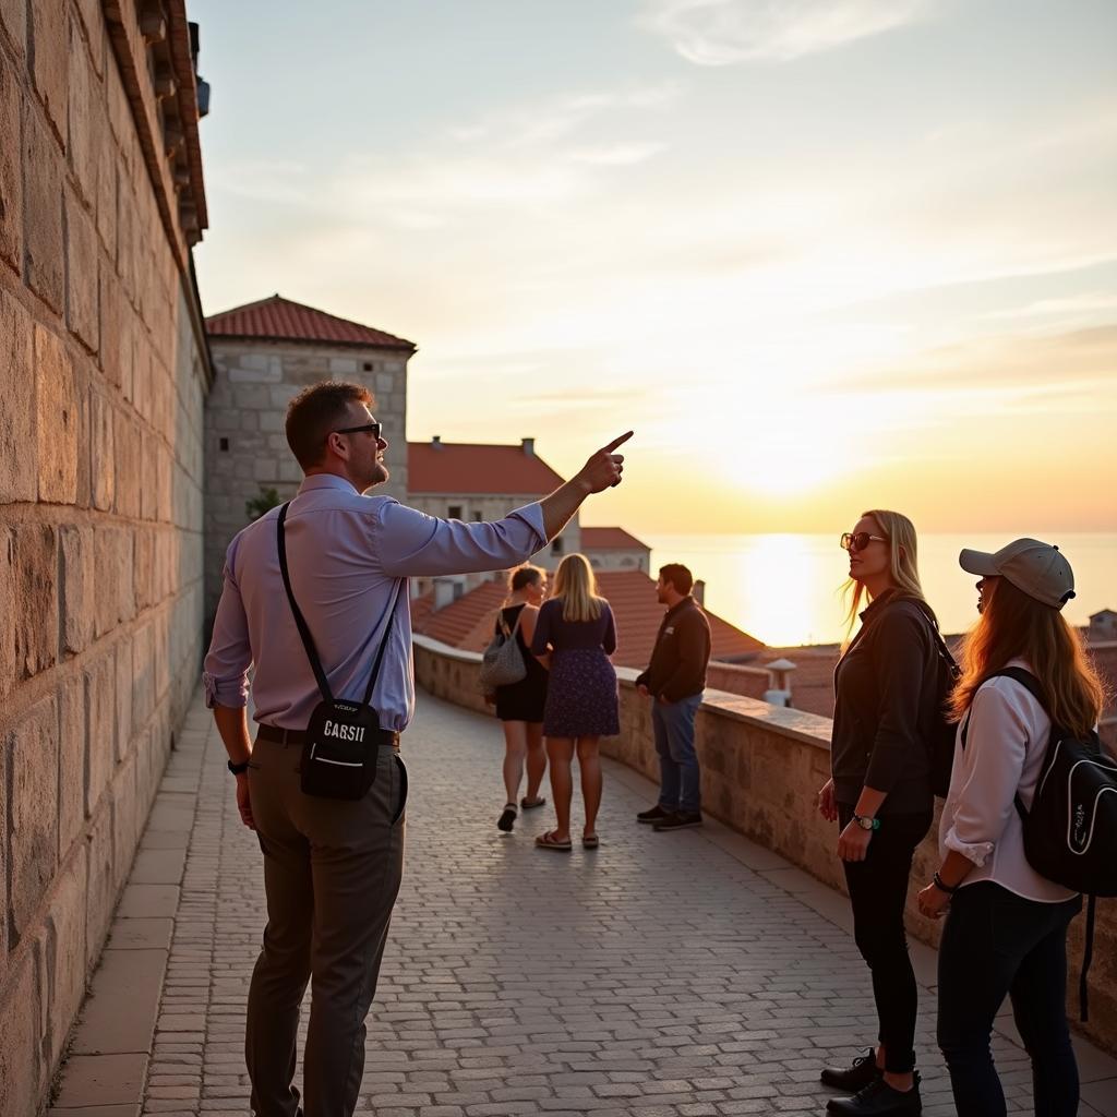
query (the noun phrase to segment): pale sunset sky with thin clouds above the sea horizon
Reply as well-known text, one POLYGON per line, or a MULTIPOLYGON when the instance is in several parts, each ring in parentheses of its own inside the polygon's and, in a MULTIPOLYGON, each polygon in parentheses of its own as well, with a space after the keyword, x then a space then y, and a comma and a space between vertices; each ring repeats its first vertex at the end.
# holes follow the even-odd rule
POLYGON ((411 439, 634 428, 633 531, 1117 531, 1111 0, 188 13, 207 313, 414 341, 411 439))

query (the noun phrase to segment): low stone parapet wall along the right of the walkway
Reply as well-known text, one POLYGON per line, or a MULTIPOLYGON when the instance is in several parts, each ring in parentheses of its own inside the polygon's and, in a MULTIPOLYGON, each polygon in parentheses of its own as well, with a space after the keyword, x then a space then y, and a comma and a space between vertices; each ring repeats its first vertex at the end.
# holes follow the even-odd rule
MULTIPOLYGON (((418 684, 439 698, 485 713, 489 707, 477 685, 479 666, 476 652, 449 648, 428 637, 414 638, 418 684)), ((619 667, 617 675, 621 733, 603 738, 602 752, 658 782, 648 700, 636 690, 636 671, 619 667)), ((697 750, 704 811, 844 892, 841 862, 834 853, 837 828, 813 808, 815 792, 830 775, 832 725, 829 718, 813 714, 707 690, 698 713, 697 750)), ((499 732, 495 723, 493 732, 499 732)), ((932 945, 937 945, 942 928, 918 914, 915 894, 939 863, 937 834, 936 811, 930 833, 916 852, 907 908, 909 932, 932 945)), ((1075 920, 1068 944, 1068 1014, 1072 1022, 1078 1019, 1082 923, 1081 918, 1075 920)), ((1098 901, 1095 934, 1090 1021, 1075 1027, 1117 1052, 1117 900, 1098 901)))

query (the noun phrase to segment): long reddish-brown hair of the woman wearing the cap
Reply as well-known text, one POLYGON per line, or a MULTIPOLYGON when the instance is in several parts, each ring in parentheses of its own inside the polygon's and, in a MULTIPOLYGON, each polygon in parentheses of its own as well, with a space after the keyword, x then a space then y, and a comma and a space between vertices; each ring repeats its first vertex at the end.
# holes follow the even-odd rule
POLYGON ((1058 609, 1030 598, 1006 577, 996 580, 960 657, 962 677, 949 701, 957 720, 991 675, 1010 659, 1023 659, 1039 679, 1043 705, 1056 725, 1075 736, 1085 736, 1097 725, 1106 693, 1082 638, 1058 609))

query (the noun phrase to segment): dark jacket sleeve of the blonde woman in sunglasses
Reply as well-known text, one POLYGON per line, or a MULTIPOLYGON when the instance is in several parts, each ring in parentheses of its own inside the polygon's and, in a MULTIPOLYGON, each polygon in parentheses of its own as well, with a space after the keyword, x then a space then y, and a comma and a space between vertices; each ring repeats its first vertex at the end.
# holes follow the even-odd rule
POLYGON ((899 609, 888 610, 878 623, 872 662, 880 680, 880 714, 865 784, 889 792, 913 750, 926 748, 919 735, 926 626, 899 609))

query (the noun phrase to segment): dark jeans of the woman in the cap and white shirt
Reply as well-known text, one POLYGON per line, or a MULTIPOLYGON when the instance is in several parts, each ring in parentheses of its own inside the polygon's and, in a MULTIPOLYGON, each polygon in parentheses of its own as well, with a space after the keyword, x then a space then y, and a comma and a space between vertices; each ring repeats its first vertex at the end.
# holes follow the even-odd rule
POLYGON ((1001 1117, 1004 1091, 990 1033, 1008 995, 1032 1060, 1037 1117, 1078 1113, 1067 1028, 1067 925, 1081 898, 1028 900, 982 880, 951 899, 938 951, 938 1046, 958 1117, 1001 1117))

